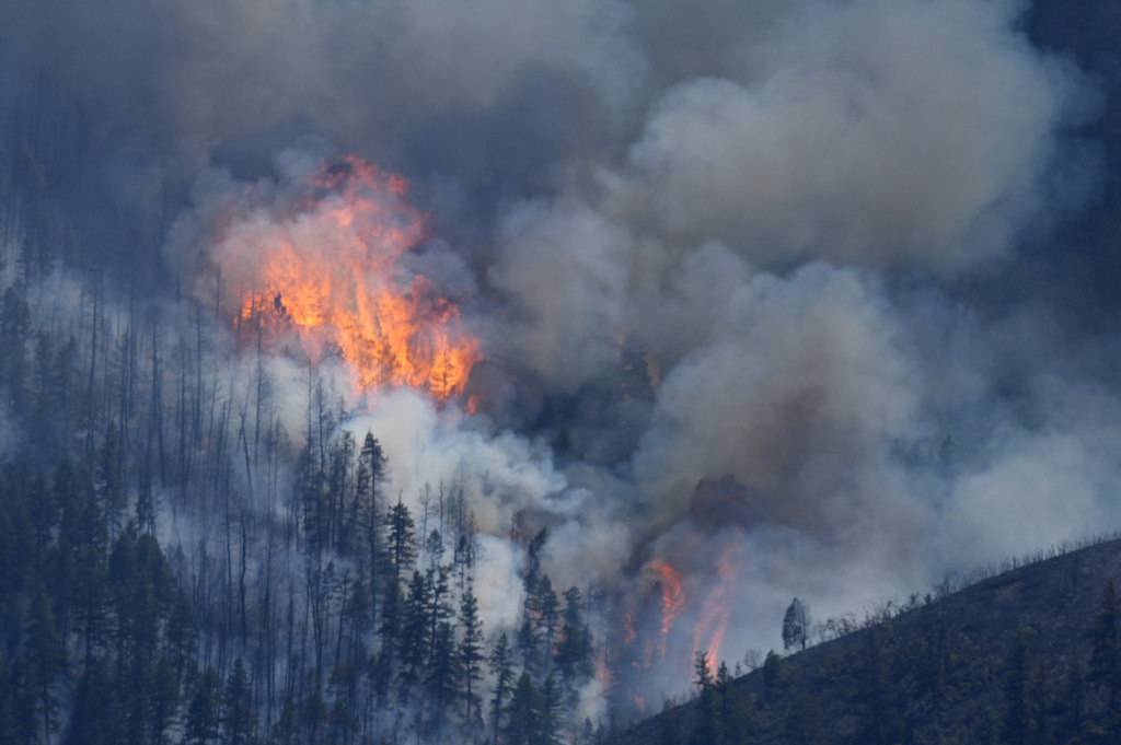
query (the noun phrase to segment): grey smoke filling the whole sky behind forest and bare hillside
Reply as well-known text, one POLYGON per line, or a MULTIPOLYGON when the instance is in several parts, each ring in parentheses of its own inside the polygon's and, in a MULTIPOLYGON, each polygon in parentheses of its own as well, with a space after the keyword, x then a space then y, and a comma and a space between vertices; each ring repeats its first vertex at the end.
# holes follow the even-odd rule
POLYGON ((492 587, 517 510, 550 527, 558 585, 620 605, 677 556, 682 627, 724 593, 734 660, 795 595, 859 612, 1121 516, 1112 311, 1063 306, 1108 263, 1077 226, 1111 188, 1115 84, 1034 43, 1029 3, 0 12, 6 114, 44 81, 81 102, 85 178, 139 215, 168 288, 203 295, 215 215, 284 204, 323 158, 413 184, 430 222, 408 261, 463 298, 481 410, 400 393, 350 426, 416 464, 407 499, 491 474, 492 587))

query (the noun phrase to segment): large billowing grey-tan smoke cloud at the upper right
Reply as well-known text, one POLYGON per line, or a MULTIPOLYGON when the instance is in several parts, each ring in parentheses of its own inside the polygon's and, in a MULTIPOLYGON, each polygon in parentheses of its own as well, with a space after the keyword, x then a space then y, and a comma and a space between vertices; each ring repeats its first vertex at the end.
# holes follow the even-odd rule
POLYGON ((629 153, 623 201, 752 261, 949 273, 1004 255, 1040 207, 1069 75, 1007 3, 795 13, 745 81, 684 82, 629 153), (967 83, 966 83, 967 81, 967 83))

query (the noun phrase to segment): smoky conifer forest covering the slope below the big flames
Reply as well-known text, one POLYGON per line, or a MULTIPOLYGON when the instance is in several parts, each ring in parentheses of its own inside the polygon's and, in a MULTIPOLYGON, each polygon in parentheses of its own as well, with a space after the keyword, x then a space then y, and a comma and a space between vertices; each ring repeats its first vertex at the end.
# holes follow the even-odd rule
POLYGON ((204 308, 173 332, 104 302, 83 287, 59 334, 3 296, 0 388, 33 445, 0 466, 0 741, 592 742, 595 598, 553 587, 544 533, 517 634, 483 626, 485 474, 413 514, 315 370, 296 447, 263 372, 229 388, 204 308), (165 522, 192 538, 166 551, 165 522))

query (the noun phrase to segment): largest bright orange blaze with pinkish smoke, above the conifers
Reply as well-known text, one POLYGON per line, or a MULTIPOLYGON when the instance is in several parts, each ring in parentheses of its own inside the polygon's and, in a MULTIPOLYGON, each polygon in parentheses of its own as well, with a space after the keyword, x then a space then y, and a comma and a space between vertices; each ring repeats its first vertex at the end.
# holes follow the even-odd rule
POLYGON ((362 391, 461 393, 479 342, 462 328, 455 302, 402 266, 424 238, 405 180, 350 157, 308 186, 312 195, 286 214, 257 211, 220 236, 214 257, 238 292, 242 322, 294 337, 313 360, 341 355, 362 391))

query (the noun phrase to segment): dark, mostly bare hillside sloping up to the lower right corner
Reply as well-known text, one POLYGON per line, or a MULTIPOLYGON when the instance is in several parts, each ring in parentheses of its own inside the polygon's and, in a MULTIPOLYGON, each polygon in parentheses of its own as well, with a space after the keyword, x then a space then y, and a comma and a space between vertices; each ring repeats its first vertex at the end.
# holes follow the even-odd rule
POLYGON ((1111 540, 888 604, 610 742, 1115 743, 1119 570, 1111 540))

